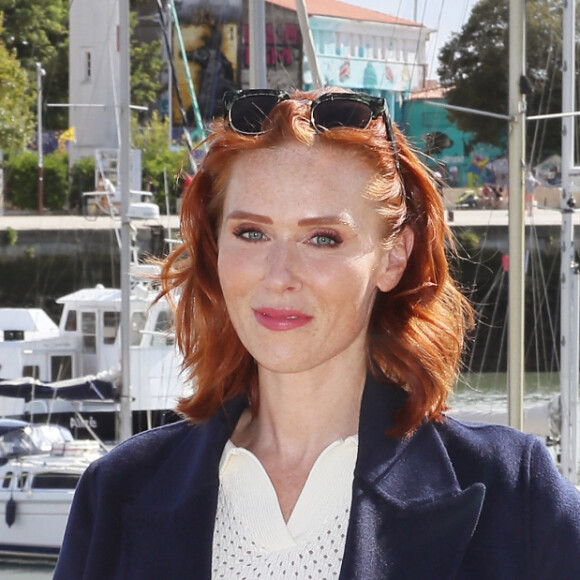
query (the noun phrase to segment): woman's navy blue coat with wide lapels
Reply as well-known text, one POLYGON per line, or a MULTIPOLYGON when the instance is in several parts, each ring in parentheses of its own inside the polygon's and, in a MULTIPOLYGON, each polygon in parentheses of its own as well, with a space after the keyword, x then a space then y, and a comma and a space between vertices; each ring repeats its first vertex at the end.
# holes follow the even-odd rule
MULTIPOLYGON (((580 493, 544 445, 453 419, 389 437, 404 396, 367 381, 340 579, 580 579, 580 493)), ((218 464, 245 405, 141 433, 96 461, 54 578, 209 580, 218 464)))

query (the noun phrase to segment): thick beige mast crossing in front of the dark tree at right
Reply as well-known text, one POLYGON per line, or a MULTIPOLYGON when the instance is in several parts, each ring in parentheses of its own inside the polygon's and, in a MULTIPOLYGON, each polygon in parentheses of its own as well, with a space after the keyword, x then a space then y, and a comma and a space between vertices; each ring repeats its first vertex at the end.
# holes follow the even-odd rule
POLYGON ((509 8, 509 291, 508 415, 509 424, 524 425, 524 169, 526 97, 520 92, 525 74, 525 0, 509 8))

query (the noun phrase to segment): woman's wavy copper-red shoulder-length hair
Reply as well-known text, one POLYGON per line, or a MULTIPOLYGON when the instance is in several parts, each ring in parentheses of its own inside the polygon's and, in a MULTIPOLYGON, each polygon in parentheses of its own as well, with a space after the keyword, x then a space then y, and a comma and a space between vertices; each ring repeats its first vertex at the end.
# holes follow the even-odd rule
POLYGON ((429 170, 395 127, 397 171, 380 118, 365 130, 341 127, 316 132, 309 102, 323 92, 329 89, 297 91, 291 100, 278 104, 269 130, 261 135, 241 135, 225 121, 214 122, 207 154, 183 194, 183 244, 163 261, 160 281, 161 295, 174 308, 183 370, 195 385, 193 394, 180 399, 177 407, 191 421, 208 419, 238 394, 245 394, 252 411, 257 411, 257 368, 226 310, 217 272, 217 235, 234 159, 244 151, 288 141, 307 147, 328 144, 370 164, 376 179, 367 195, 385 221, 385 244, 403 227, 413 231, 414 246, 401 280, 390 292, 377 294, 368 329, 367 365, 379 380, 393 380, 409 394, 396 417, 394 435, 411 433, 425 418, 440 419, 447 408, 473 314, 450 276, 447 251, 453 250, 453 243, 441 195, 429 170))

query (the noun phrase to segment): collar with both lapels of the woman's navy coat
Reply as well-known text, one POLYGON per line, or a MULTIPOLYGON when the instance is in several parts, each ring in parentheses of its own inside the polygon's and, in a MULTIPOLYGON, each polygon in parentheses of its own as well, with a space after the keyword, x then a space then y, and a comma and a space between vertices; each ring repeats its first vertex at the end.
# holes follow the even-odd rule
MULTIPOLYGON (((407 439, 385 434, 405 398, 395 385, 367 380, 341 580, 454 578, 477 524, 485 488, 461 489, 431 423, 407 439)), ((192 570, 196 578, 211 578, 219 461, 246 406, 243 397, 228 401, 210 421, 186 431, 123 509, 132 522, 124 540, 132 574, 126 578, 191 577, 192 570), (159 537, 170 538, 171 553, 180 558, 159 557, 159 537), (143 546, 157 556, 145 555, 143 546)))

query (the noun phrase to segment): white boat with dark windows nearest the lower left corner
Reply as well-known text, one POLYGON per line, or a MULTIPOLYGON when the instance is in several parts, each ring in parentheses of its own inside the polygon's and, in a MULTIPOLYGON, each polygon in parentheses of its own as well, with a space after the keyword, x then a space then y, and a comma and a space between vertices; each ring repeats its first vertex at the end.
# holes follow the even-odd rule
POLYGON ((55 560, 77 482, 105 451, 64 427, 0 420, 0 558, 55 560))

